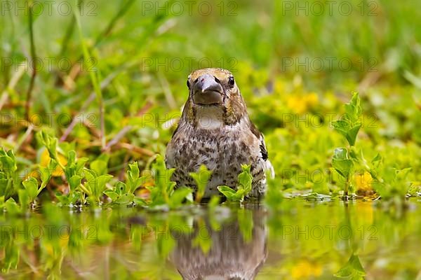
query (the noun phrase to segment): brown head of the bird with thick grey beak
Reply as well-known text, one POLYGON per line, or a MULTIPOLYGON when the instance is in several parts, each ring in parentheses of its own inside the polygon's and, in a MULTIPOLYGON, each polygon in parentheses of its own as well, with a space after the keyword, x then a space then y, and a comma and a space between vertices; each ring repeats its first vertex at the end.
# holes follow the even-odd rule
POLYGON ((189 99, 183 117, 189 122, 208 118, 221 120, 223 125, 234 125, 247 116, 239 87, 228 70, 206 68, 193 71, 187 78, 187 87, 189 99))

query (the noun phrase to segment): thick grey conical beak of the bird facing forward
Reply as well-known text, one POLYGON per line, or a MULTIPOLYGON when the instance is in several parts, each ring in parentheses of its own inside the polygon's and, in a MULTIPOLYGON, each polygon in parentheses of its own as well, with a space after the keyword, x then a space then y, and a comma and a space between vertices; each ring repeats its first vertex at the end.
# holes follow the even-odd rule
POLYGON ((198 78, 193 88, 193 101, 200 105, 217 105, 223 102, 224 90, 217 79, 209 74, 198 78))

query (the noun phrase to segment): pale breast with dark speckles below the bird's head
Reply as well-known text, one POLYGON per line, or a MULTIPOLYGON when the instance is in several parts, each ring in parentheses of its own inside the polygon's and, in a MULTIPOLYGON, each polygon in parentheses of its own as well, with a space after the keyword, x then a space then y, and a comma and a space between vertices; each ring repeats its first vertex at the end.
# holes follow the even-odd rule
POLYGON ((236 188, 241 165, 251 165, 253 175, 250 197, 265 193, 267 162, 262 157, 260 140, 246 123, 215 130, 195 129, 189 125, 179 127, 168 145, 166 164, 175 168, 173 180, 177 186, 196 188, 190 172, 201 165, 212 170, 204 197, 218 195, 218 186, 236 188))

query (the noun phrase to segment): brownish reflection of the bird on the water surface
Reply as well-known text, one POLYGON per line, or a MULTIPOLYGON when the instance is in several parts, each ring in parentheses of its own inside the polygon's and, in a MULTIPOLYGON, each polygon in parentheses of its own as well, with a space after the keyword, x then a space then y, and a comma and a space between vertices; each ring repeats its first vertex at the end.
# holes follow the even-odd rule
MULTIPOLYGON (((250 211, 250 210, 245 210, 250 211)), ((195 218, 191 235, 182 235, 170 259, 186 280, 239 280, 254 279, 267 257, 267 230, 261 211, 253 211, 251 221, 235 218, 222 223, 218 230, 208 219, 199 223, 195 218), (248 235, 240 223, 251 225, 248 235), (215 227, 214 227, 215 228, 215 227), (201 233, 206 232, 206 233, 201 233), (210 249, 203 252, 195 239, 211 240, 210 249)))

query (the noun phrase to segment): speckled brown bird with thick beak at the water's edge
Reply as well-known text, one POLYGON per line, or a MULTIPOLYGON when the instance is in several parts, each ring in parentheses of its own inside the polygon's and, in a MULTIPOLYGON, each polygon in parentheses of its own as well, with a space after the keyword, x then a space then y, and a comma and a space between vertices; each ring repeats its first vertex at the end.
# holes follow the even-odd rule
POLYGON ((187 78, 189 95, 171 141, 166 147, 166 167, 175 169, 176 188, 197 186, 192 172, 201 165, 210 170, 203 199, 222 197, 218 186, 236 190, 242 165, 250 165, 252 188, 246 200, 261 200, 267 174, 274 177, 265 139, 251 122, 246 102, 233 74, 220 68, 198 69, 187 78))

